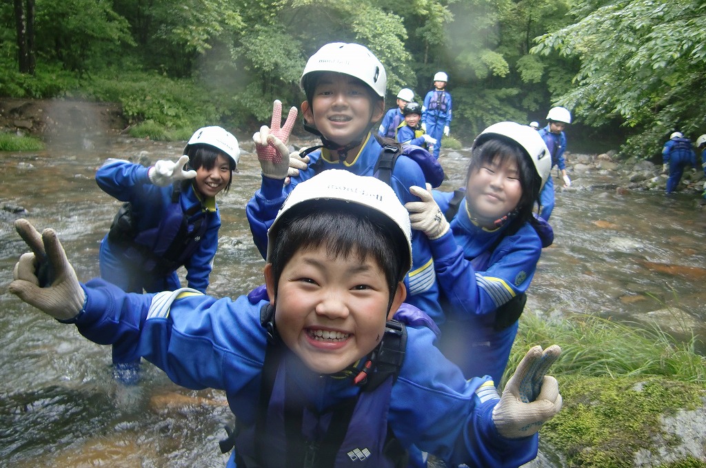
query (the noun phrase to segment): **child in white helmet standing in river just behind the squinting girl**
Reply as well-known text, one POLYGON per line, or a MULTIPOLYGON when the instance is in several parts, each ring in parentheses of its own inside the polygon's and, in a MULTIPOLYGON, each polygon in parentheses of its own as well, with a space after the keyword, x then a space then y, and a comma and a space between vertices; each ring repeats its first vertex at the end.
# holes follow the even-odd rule
MULTIPOLYGON (((564 152, 566 151, 566 133, 564 133, 564 128, 571 123, 571 113, 568 109, 564 107, 552 107, 546 114, 546 120, 548 123, 546 127, 539 129, 539 135, 542 136, 544 143, 546 143, 546 148, 549 148, 551 153, 551 167, 557 166, 561 171, 561 178, 563 179, 564 186, 571 186, 571 179, 566 174, 566 161, 564 160, 564 152)), ((546 180, 544 188, 542 188, 542 193, 539 194, 539 199, 542 201, 542 211, 539 215, 544 218, 545 221, 549 221, 551 212, 554 211, 554 179, 549 175, 549 179, 546 180)))

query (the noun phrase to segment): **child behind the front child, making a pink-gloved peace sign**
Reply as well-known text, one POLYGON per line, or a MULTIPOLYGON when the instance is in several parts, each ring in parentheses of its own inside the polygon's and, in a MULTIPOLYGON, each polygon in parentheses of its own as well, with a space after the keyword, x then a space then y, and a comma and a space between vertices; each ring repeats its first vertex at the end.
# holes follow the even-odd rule
MULTIPOLYGON (((362 45, 334 42, 313 54, 301 75, 301 89, 306 94, 301 110, 304 128, 321 136, 322 145, 306 150, 314 151, 304 158, 292 153, 292 166, 298 168, 293 172, 289 172, 290 155, 285 143, 297 109, 289 110, 287 121, 280 128, 282 104, 275 101, 271 128, 263 126, 253 135, 263 181, 246 206, 253 241, 263 256, 267 251, 267 229, 287 194, 299 182, 327 169, 345 169, 361 176, 378 174, 383 143, 371 129, 385 109, 386 83, 383 64, 362 45), (306 164, 308 162, 311 164, 306 164), (289 184, 285 184, 287 176, 289 184)), ((415 160, 397 157, 390 186, 402 203, 418 200, 409 193, 409 187, 424 186, 425 182, 424 171, 415 160)), ((407 301, 436 316, 441 308, 436 300, 438 290, 433 279, 429 241, 423 233, 415 232, 412 246, 412 270, 405 280, 407 301)))

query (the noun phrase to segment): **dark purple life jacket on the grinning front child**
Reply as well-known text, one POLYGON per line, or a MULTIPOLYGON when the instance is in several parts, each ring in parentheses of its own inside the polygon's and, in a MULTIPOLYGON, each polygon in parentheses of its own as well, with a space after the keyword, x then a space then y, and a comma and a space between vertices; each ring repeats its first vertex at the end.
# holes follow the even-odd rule
MULTIPOLYGON (((257 299, 258 294, 258 290, 251 292, 249 299, 257 299)), ((433 324, 429 316, 414 311, 400 317, 433 324)), ((383 340, 364 367, 367 372, 357 395, 317 413, 292 385, 287 366, 281 365, 288 357, 287 348, 277 335, 273 316, 273 306, 263 306, 261 323, 268 330, 268 346, 256 422, 229 431, 229 438, 221 442, 222 452, 234 447, 239 468, 406 467, 407 452, 388 427, 392 388, 407 347, 405 323, 390 320, 385 325, 383 340)))

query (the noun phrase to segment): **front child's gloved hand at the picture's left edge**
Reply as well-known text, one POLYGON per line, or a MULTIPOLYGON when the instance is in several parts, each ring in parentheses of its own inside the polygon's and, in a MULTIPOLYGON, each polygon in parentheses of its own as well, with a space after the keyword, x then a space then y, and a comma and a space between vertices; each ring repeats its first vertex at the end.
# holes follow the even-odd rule
POLYGON ((31 306, 56 320, 67 321, 78 316, 86 295, 66 259, 66 252, 54 229, 44 229, 42 235, 28 220, 17 220, 15 228, 32 253, 23 253, 13 271, 14 281, 8 290, 31 306), (39 274, 42 264, 48 263, 53 280, 44 283, 39 274))

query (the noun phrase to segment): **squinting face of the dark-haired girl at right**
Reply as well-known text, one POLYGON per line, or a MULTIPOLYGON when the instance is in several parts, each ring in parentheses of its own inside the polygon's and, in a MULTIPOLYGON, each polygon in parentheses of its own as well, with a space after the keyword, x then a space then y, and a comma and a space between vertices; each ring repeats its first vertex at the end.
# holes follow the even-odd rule
POLYGON ((493 222, 514 210, 522 198, 517 164, 511 160, 498 164, 498 160, 495 157, 472 172, 467 181, 466 203, 483 227, 494 227, 493 222))

